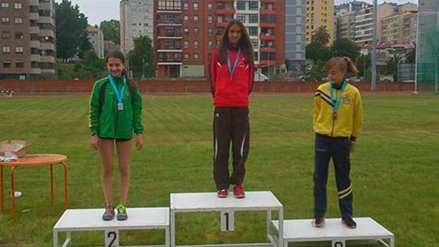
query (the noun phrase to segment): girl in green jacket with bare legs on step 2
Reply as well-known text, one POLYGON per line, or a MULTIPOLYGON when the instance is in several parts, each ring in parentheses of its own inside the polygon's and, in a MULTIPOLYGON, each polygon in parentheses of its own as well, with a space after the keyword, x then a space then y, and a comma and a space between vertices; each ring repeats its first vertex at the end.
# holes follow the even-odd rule
POLYGON ((128 80, 122 52, 113 51, 107 57, 108 76, 96 81, 90 98, 89 128, 91 146, 99 150, 102 163, 102 189, 105 197, 104 221, 128 219, 127 195, 130 184, 131 139, 136 134, 136 148, 142 149, 142 96, 137 86, 128 80), (113 206, 112 170, 116 144, 120 172, 120 203, 113 206))

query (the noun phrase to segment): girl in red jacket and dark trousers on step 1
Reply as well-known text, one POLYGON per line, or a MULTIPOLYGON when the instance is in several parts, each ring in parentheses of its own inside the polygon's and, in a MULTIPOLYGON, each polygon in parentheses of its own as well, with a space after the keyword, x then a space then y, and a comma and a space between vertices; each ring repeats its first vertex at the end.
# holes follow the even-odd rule
POLYGON ((253 84, 253 48, 244 25, 230 20, 211 61, 211 86, 214 96, 214 179, 217 196, 227 197, 230 184, 233 195, 244 198, 245 175, 250 128, 248 96, 253 84), (232 144, 233 172, 228 171, 232 144))

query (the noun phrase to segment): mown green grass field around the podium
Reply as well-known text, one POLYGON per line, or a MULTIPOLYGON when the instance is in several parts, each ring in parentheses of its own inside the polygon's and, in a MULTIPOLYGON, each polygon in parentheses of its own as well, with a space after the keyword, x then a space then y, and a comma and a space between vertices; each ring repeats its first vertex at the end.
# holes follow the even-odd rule
MULTIPOLYGON (((439 246, 439 98, 364 95, 364 131, 352 154, 354 215, 371 216, 396 235, 398 247, 439 246)), ((87 96, 1 98, 0 140, 25 139, 28 153, 69 157, 70 208, 103 207, 99 159, 89 147, 87 96)), ((312 217, 311 95, 253 95, 251 144, 244 187, 271 190, 285 219, 312 217)), ((171 192, 207 192, 212 178, 213 106, 209 95, 144 96, 145 146, 133 148, 129 206, 168 206, 171 192)), ((49 169, 19 168, 18 223, 10 222, 9 171, 0 246, 50 247, 63 212, 63 177, 55 169, 55 206, 49 169), (30 212, 22 213, 30 209, 30 212)), ((115 173, 117 175, 118 173, 115 173)), ((339 217, 333 168, 327 217, 339 217)), ((115 188, 117 177, 115 176, 115 188)), ((117 195, 117 190, 115 190, 117 195)), ((117 197, 115 197, 117 198, 117 197)), ((237 213, 233 233, 219 231, 219 214, 177 216, 177 244, 264 241, 263 213, 237 213), (245 224, 244 224, 245 223, 245 224)), ((73 246, 103 245, 103 234, 73 234, 73 246)), ((130 231, 121 245, 161 244, 160 231, 130 231)))

